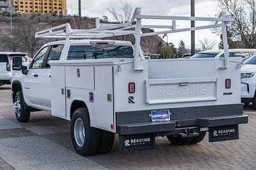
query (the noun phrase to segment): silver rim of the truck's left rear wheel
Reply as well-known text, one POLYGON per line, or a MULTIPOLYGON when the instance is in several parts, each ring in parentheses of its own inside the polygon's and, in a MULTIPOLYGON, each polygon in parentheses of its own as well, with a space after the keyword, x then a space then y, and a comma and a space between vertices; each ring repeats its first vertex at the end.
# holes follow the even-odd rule
POLYGON ((78 118, 75 121, 74 138, 75 138, 76 144, 79 147, 83 146, 85 141, 85 128, 84 128, 83 120, 81 120, 80 118, 78 118))

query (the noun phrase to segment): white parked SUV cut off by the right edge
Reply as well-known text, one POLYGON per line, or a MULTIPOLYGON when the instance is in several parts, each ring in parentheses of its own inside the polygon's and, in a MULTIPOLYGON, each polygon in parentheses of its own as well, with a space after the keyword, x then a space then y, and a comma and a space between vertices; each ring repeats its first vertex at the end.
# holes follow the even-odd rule
POLYGON ((241 68, 241 102, 252 102, 256 109, 256 55, 246 59, 241 68))

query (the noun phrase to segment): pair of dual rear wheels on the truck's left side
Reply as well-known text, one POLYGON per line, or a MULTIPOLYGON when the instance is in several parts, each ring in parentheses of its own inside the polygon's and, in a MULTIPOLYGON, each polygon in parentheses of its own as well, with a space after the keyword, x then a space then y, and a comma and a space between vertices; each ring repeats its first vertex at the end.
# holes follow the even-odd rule
POLYGON ((88 156, 108 153, 113 147, 115 134, 90 127, 88 110, 80 108, 72 116, 71 138, 76 152, 88 156))

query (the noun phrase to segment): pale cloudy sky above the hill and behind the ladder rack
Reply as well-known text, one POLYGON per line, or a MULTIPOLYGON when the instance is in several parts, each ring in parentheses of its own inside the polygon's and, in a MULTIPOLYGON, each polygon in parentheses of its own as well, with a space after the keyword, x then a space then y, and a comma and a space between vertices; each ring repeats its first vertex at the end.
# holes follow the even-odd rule
MULTIPOLYGON (((127 0, 131 2, 134 8, 141 7, 141 14, 145 15, 190 15, 190 0, 127 0)), ((120 7, 120 0, 81 0, 82 16, 86 17, 102 17, 106 15, 111 19, 108 8, 120 7)), ((68 14, 74 15, 78 13, 78 0, 67 0, 68 14), (77 3, 75 3, 77 1, 77 3)), ((196 17, 214 17, 218 12, 216 0, 195 0, 195 16, 196 17)), ((143 24, 163 24, 170 25, 170 20, 163 22, 159 20, 143 20, 143 24)), ((211 24, 210 22, 196 22, 196 26, 211 24)), ((177 21, 177 28, 189 27, 189 21, 177 21)), ((155 29, 156 30, 156 29, 155 29)), ((161 30, 156 30, 161 31, 161 30)), ((207 38, 216 41, 216 47, 220 42, 220 36, 212 33, 211 30, 205 29, 196 31, 196 47, 200 47, 199 41, 207 38)), ((164 38, 166 41, 167 38, 164 38)), ((186 47, 190 47, 190 32, 175 33, 168 35, 168 42, 174 43, 175 47, 179 47, 180 40, 184 40, 186 47)))

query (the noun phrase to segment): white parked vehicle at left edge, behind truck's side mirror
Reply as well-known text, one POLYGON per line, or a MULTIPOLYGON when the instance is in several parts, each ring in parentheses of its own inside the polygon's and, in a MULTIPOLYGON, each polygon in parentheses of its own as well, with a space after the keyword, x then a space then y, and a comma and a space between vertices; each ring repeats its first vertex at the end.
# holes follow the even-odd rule
POLYGON ((28 54, 22 52, 0 52, 0 86, 11 84, 12 79, 12 58, 21 56, 24 65, 28 65, 31 61, 28 54))

